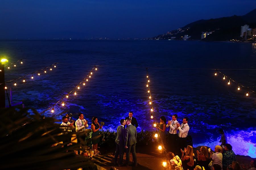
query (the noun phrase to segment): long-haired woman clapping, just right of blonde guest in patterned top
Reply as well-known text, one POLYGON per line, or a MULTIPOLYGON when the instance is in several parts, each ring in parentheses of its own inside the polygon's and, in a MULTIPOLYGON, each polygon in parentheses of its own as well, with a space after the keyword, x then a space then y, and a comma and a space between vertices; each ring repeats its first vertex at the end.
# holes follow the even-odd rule
POLYGON ((194 169, 194 159, 195 155, 193 153, 193 147, 187 146, 187 149, 184 148, 184 151, 180 149, 181 151, 181 161, 182 166, 184 170, 193 170, 194 169))

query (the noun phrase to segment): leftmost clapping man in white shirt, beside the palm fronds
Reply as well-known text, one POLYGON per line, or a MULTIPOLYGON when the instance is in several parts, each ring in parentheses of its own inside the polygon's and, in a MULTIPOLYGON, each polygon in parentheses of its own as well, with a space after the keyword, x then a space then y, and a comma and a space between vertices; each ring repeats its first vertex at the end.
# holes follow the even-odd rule
MULTIPOLYGON (((62 123, 60 125, 60 129, 63 131, 62 134, 68 134, 72 132, 74 128, 74 122, 68 122, 68 118, 66 116, 62 117, 62 123)), ((71 143, 71 136, 68 136, 67 139, 63 139, 63 145, 69 145, 71 143)))

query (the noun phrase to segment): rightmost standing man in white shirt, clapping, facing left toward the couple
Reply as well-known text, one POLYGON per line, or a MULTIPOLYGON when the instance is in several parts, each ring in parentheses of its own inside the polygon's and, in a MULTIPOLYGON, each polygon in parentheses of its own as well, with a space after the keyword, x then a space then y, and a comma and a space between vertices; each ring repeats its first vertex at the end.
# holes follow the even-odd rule
POLYGON ((187 122, 188 122, 188 118, 185 117, 183 118, 181 125, 179 125, 179 123, 176 124, 177 129, 179 130, 177 143, 179 144, 179 149, 182 149, 182 150, 187 147, 187 134, 189 131, 189 126, 187 122))

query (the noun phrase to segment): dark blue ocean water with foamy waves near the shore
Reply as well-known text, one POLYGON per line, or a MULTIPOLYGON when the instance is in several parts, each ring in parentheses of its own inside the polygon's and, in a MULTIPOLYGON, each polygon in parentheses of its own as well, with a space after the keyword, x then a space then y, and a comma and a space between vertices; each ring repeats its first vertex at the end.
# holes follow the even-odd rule
POLYGON ((178 121, 189 117, 189 134, 194 146, 218 143, 222 128, 236 154, 256 158, 255 94, 245 97, 248 89, 241 88, 219 70, 240 84, 252 87, 256 83, 256 44, 201 41, 0 41, 0 55, 9 62, 23 59, 5 69, 5 81, 58 63, 53 71, 16 80, 12 87, 13 102, 22 101, 25 107, 42 112, 59 101, 88 75, 94 65, 98 70, 86 86, 80 85, 77 95, 64 99, 65 107, 56 105, 45 116, 61 122, 64 112, 82 112, 91 122, 92 116, 105 122, 104 129, 115 130, 121 118, 133 111, 141 130, 154 130, 150 119, 146 88, 146 67, 149 67, 152 105, 160 116, 178 121), (229 70, 231 69, 231 70, 229 70))

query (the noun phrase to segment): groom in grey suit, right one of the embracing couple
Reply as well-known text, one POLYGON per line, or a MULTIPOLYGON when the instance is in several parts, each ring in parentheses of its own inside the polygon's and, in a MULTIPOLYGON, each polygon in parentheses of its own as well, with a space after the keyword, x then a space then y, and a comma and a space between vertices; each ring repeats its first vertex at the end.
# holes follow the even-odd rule
POLYGON ((134 165, 137 166, 137 157, 136 157, 136 150, 135 150, 135 144, 137 143, 137 130, 135 126, 131 124, 131 119, 126 120, 127 128, 125 128, 125 148, 126 150, 126 165, 129 165, 130 162, 130 152, 132 152, 133 155, 133 161, 134 165))

